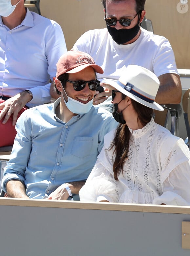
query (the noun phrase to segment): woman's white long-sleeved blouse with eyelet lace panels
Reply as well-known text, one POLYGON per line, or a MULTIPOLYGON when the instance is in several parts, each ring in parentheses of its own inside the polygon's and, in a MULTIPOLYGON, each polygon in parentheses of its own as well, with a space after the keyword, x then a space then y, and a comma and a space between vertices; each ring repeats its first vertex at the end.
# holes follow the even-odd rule
POLYGON ((190 153, 184 141, 152 119, 131 130, 128 158, 118 181, 113 176, 114 148, 107 150, 115 130, 79 191, 81 201, 190 205, 190 153))

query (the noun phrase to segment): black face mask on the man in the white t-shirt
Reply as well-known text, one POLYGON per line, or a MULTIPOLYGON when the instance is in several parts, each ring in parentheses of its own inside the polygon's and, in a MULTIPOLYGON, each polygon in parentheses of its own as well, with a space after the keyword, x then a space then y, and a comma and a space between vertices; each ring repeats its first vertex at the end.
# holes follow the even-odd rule
MULTIPOLYGON (((140 19, 139 19, 140 20, 140 19)), ((132 40, 139 32, 139 21, 132 29, 115 29, 107 25, 107 30, 117 44, 125 44, 132 40)))

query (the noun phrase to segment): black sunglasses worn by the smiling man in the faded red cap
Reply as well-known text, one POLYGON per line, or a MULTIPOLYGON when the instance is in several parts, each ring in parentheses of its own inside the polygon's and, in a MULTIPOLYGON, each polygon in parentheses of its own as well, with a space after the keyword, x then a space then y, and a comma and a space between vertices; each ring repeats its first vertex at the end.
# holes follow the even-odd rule
POLYGON ((88 87, 90 90, 95 91, 98 89, 98 86, 100 85, 100 81, 99 80, 90 80, 90 81, 70 81, 67 79, 60 79, 60 81, 65 81, 65 82, 69 82, 73 84, 73 88, 75 91, 79 92, 81 90, 83 90, 86 86, 86 84, 88 84, 88 87))

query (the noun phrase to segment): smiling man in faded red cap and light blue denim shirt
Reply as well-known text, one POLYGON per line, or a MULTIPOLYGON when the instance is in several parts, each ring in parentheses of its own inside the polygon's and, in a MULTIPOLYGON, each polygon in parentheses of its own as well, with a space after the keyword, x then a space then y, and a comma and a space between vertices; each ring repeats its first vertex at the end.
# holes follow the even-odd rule
POLYGON ((67 200, 78 194, 105 134, 117 126, 109 112, 92 105, 100 83, 95 72, 103 70, 90 55, 65 53, 57 63, 55 79, 61 97, 19 117, 2 180, 9 197, 67 200))

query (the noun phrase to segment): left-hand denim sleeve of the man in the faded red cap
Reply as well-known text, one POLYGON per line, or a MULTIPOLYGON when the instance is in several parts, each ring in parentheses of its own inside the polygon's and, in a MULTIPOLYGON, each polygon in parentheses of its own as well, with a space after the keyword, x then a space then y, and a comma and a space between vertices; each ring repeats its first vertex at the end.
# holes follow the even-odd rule
POLYGON ((30 122, 25 112, 18 118, 16 123, 17 135, 11 152, 11 158, 4 169, 2 189, 6 192, 6 183, 10 180, 20 180, 25 183, 25 170, 28 164, 32 139, 30 122))

